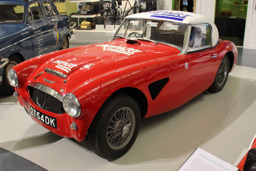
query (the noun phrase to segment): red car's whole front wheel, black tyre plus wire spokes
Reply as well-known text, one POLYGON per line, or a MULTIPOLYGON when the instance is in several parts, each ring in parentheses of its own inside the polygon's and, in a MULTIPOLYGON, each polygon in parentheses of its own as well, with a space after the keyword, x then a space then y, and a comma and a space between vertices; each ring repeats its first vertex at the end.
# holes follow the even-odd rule
POLYGON ((131 96, 121 94, 110 97, 101 106, 88 130, 92 151, 108 160, 123 156, 132 147, 139 133, 140 120, 140 107, 131 96), (122 111, 129 113, 125 117, 125 114, 121 114, 122 111))

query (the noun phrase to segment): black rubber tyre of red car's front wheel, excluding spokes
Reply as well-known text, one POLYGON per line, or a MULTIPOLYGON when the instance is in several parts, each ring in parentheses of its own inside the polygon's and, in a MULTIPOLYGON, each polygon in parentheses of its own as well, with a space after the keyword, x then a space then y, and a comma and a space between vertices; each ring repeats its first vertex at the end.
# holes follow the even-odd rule
MULTIPOLYGON (((139 105, 137 104, 137 102, 135 101, 134 98, 132 98, 129 95, 124 95, 124 94, 118 94, 118 95, 114 95, 113 97, 110 97, 100 107, 100 110, 98 111, 98 113, 96 114, 96 116, 94 117, 94 119, 93 119, 93 121, 90 125, 90 128, 88 130, 89 146, 91 147, 92 151, 95 154, 97 154, 101 158, 104 158, 104 159, 107 159, 107 160, 113 160, 113 159, 117 159, 117 158, 123 156, 132 147, 132 144, 134 143, 134 141, 135 141, 135 139, 136 139, 136 137, 139 133, 140 120, 141 120, 140 107, 139 107, 139 105), (134 111, 134 114, 135 114, 135 118, 136 118, 135 130, 133 132, 132 138, 130 139, 130 142, 128 144, 126 144, 126 146, 123 147, 122 149, 113 150, 108 146, 108 148, 111 149, 110 151, 113 151, 115 153, 118 153, 117 151, 120 151, 119 154, 106 153, 106 152, 104 152, 104 151, 106 151, 106 149, 103 149, 104 146, 100 145, 100 144, 102 144, 102 139, 100 138, 101 131, 103 131, 103 132, 106 131, 106 130, 102 130, 102 126, 106 122, 108 124, 110 119, 106 120, 106 118, 108 118, 109 114, 112 114, 111 117, 114 114, 114 113, 109 113, 109 112, 120 101, 130 101, 130 103, 134 103, 134 105, 137 106, 136 109, 132 108, 132 110, 134 111)), ((105 138, 106 138, 106 134, 105 134, 105 138)), ((105 139, 105 141, 107 143, 106 139, 105 139)))

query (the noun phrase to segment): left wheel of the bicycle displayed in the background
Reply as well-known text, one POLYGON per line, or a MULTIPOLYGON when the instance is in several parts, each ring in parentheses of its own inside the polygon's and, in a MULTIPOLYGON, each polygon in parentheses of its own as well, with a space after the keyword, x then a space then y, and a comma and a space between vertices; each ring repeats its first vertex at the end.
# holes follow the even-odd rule
POLYGON ((96 15, 95 24, 113 25, 116 21, 115 15, 110 10, 102 10, 96 15))

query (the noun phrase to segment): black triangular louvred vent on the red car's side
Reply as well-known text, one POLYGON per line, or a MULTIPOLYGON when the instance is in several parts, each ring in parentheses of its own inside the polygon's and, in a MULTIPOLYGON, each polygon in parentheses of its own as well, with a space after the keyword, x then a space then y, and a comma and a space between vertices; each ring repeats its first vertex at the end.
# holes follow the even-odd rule
POLYGON ((162 80, 158 80, 156 82, 152 82, 148 85, 149 93, 152 97, 152 100, 155 100, 160 91, 164 88, 166 83, 169 81, 169 78, 164 78, 162 80))

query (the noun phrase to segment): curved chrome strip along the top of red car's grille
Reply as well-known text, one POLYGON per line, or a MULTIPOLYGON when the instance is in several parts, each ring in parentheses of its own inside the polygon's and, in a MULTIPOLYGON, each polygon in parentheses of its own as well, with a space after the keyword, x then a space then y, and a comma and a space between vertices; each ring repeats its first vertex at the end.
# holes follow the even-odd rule
POLYGON ((56 90, 52 89, 51 87, 48 87, 44 84, 40 84, 37 82, 32 82, 31 84, 29 84, 28 86, 30 87, 34 87, 36 89, 39 89, 55 98, 57 98, 58 100, 60 100, 61 102, 63 101, 64 96, 62 96, 60 93, 58 93, 56 90))

